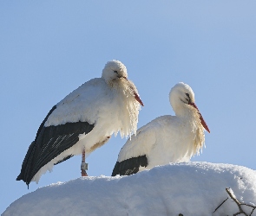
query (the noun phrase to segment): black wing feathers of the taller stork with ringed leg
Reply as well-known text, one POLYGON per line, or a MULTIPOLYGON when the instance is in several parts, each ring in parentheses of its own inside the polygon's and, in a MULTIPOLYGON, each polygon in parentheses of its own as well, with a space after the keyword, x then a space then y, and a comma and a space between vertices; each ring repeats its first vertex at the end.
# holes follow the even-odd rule
MULTIPOLYGON (((30 148, 23 160, 22 170, 16 180, 23 180, 27 185, 34 175, 45 164, 50 162, 64 150, 69 149, 79 141, 80 134, 88 134, 94 128, 94 124, 87 122, 66 123, 57 126, 44 127, 43 125, 49 115, 56 109, 54 106, 44 118, 36 133, 36 139, 30 144, 30 148)), ((68 160, 71 156, 66 156, 57 163, 68 160)))

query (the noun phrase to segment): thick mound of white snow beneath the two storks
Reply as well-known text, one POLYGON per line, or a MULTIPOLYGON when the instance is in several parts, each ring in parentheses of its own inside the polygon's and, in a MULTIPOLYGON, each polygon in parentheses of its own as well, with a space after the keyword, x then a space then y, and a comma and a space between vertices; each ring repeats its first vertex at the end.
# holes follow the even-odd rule
MULTIPOLYGON (((57 182, 23 195, 2 215, 233 215, 239 208, 226 187, 240 202, 256 205, 255 170, 231 164, 183 162, 129 176, 57 182)), ((253 210, 244 208, 248 214, 253 210)))

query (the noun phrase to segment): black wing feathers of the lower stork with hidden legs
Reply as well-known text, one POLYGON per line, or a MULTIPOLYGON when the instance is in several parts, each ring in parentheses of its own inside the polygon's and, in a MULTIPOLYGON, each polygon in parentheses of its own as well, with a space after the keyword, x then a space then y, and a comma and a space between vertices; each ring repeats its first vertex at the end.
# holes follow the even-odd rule
POLYGON ((116 162, 111 176, 136 174, 140 166, 145 168, 148 166, 148 158, 146 155, 131 157, 122 162, 116 162))

